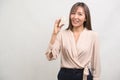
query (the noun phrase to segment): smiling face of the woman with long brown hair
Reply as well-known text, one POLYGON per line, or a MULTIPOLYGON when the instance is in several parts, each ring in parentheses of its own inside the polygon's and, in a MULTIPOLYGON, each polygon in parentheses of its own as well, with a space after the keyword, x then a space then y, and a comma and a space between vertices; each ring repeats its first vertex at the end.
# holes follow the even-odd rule
POLYGON ((84 9, 82 7, 78 7, 77 10, 73 10, 70 15, 70 19, 73 27, 83 26, 84 21, 86 21, 84 9))

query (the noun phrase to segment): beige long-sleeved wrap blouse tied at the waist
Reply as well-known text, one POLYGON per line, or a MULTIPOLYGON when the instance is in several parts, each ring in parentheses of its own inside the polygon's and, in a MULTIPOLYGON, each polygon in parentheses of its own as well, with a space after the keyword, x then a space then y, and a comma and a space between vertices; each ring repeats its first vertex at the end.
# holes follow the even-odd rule
POLYGON ((93 80, 100 80, 100 56, 99 40, 95 31, 85 28, 77 41, 75 42, 71 30, 60 31, 53 45, 49 44, 46 51, 48 60, 54 60, 61 54, 61 67, 65 68, 84 68, 84 79, 91 70, 93 80), (49 54, 53 57, 50 58, 49 54))

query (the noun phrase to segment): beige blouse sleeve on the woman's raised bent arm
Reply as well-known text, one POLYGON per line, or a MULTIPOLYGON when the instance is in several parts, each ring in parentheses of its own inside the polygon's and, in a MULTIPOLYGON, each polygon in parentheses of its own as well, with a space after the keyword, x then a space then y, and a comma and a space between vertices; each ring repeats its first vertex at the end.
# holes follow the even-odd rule
POLYGON ((60 47, 61 47, 61 34, 60 32, 57 34, 56 40, 54 42, 54 44, 50 44, 48 45, 48 49, 46 51, 46 57, 47 59, 50 60, 54 60, 58 57, 59 53, 60 53, 60 47), (50 54, 52 54, 52 57, 50 57, 50 54))

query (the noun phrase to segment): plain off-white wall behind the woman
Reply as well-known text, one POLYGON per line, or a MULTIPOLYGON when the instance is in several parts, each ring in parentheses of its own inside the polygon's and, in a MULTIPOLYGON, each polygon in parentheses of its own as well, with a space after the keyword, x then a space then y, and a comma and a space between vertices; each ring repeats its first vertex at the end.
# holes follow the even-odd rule
MULTIPOLYGON (((44 54, 54 21, 78 1, 0 0, 0 80, 57 80, 59 58, 44 54)), ((120 80, 120 1, 83 2, 100 37, 101 80, 120 80)))

